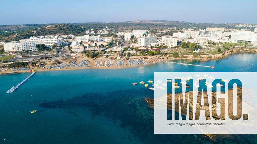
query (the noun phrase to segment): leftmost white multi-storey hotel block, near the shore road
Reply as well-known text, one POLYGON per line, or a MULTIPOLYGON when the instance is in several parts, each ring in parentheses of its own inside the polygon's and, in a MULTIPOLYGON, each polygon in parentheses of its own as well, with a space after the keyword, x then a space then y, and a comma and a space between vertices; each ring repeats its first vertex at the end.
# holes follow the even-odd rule
POLYGON ((29 40, 20 40, 20 42, 7 42, 4 44, 5 52, 22 50, 36 51, 36 44, 34 42, 30 42, 29 40))

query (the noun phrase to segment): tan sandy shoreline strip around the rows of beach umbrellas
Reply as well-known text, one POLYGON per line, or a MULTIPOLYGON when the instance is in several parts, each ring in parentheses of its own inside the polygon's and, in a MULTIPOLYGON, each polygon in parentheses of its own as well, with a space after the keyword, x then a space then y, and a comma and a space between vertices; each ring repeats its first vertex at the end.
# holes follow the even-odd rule
MULTIPOLYGON (((178 60, 178 59, 200 59, 201 62, 205 62, 208 60, 213 60, 213 59, 222 59, 222 58, 226 58, 229 55, 232 54, 236 54, 236 53, 249 53, 249 51, 247 49, 234 49, 234 51, 225 51, 224 53, 221 54, 215 54, 215 55, 211 55, 212 58, 208 58, 209 55, 201 55, 201 57, 197 57, 194 58, 192 55, 180 55, 183 57, 178 57, 178 58, 174 58, 172 57, 172 55, 166 55, 165 58, 160 59, 161 56, 157 55, 157 56, 133 56, 130 57, 130 60, 144 60, 146 61, 148 64, 145 65, 129 65, 128 64, 128 60, 126 59, 121 59, 124 60, 124 64, 126 64, 125 66, 109 66, 109 67, 105 67, 105 66, 95 66, 95 63, 97 60, 109 60, 108 58, 105 57, 100 57, 100 58, 87 58, 87 57, 76 57, 76 62, 81 62, 82 60, 90 60, 91 65, 90 67, 68 67, 68 68, 51 68, 51 69, 45 69, 47 67, 49 67, 52 62, 54 62, 53 60, 47 60, 45 61, 45 68, 41 68, 41 67, 35 67, 33 68, 34 71, 52 71, 52 70, 75 70, 75 69, 121 69, 121 68, 131 68, 131 67, 138 67, 138 66, 146 66, 146 65, 152 65, 152 64, 157 64, 160 63, 162 61, 170 61, 170 60, 178 60), (147 59, 143 59, 143 57, 147 57, 147 59)), ((256 53, 256 50, 254 52, 251 53, 256 53)), ((58 59, 59 61, 61 61, 62 64, 68 64, 67 61, 58 59)), ((8 74, 8 73, 24 73, 24 72, 29 72, 30 70, 17 70, 17 71, 13 71, 13 69, 11 68, 10 70, 5 70, 5 71, 0 71, 0 74, 8 74)))

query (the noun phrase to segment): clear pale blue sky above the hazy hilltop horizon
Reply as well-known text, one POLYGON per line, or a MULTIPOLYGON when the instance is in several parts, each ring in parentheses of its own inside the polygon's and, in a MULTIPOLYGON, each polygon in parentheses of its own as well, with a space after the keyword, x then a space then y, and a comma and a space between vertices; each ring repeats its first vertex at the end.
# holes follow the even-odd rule
POLYGON ((257 24, 257 0, 1 0, 0 25, 184 20, 257 24))

